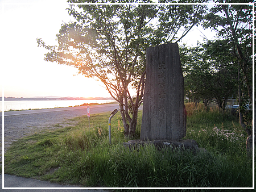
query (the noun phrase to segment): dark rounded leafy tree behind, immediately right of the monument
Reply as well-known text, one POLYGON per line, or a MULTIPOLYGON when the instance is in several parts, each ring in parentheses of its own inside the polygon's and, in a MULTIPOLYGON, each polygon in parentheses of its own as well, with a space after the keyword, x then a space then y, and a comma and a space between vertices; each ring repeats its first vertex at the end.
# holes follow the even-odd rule
POLYGON ((184 47, 181 51, 188 93, 203 99, 205 105, 216 99, 221 111, 225 110, 237 82, 237 67, 233 65, 231 55, 226 53, 228 49, 225 42, 215 40, 195 48, 184 47))

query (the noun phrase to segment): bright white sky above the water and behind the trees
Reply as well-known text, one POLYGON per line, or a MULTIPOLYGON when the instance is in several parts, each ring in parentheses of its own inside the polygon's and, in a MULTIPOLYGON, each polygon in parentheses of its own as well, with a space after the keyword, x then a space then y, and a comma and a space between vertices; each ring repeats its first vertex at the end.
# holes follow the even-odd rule
MULTIPOLYGON (((44 61, 47 50, 36 38, 57 45, 61 24, 73 20, 65 0, 0 0, 1 96, 5 97, 111 97, 100 81, 77 74, 72 66, 44 61), (4 27, 3 27, 4 26, 4 27)), ((214 32, 192 28, 183 43, 196 45, 203 34, 214 32)))

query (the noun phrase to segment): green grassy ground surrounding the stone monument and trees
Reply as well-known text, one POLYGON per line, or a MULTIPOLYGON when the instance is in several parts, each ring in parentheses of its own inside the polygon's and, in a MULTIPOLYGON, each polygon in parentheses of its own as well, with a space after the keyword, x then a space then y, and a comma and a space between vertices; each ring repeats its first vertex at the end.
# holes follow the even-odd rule
MULTIPOLYGON (((83 187, 252 187, 252 158, 246 133, 236 117, 214 108, 186 104, 187 136, 207 152, 139 150, 123 147, 121 115, 109 113, 73 119, 75 127, 57 128, 13 143, 5 154, 5 173, 83 187)), ((142 111, 139 112, 139 139, 142 111)), ((57 126, 56 126, 57 127, 57 126)), ((207 191, 207 190, 205 190, 207 191)))

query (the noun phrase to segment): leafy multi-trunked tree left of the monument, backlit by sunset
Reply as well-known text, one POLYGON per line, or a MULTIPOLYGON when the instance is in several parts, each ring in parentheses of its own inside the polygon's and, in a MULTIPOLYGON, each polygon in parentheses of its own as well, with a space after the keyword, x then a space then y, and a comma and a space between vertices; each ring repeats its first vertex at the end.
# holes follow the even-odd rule
POLYGON ((49 50, 46 61, 74 66, 85 77, 103 82, 110 95, 119 103, 125 136, 133 136, 138 108, 144 95, 146 47, 166 41, 166 34, 159 31, 161 27, 167 28, 165 33, 172 34, 173 40, 181 39, 185 34, 179 36, 178 31, 186 26, 191 27, 189 20, 195 25, 195 17, 204 12, 202 6, 191 5, 189 10, 196 14, 189 12, 188 18, 185 18, 184 7, 175 7, 71 6, 68 9, 69 15, 77 21, 61 26, 56 35, 59 45, 48 46, 42 39, 37 39, 38 44, 49 50), (171 14, 172 11, 175 14, 171 14), (170 18, 171 15, 173 18, 170 18), (164 22, 168 26, 164 26, 164 22), (175 26, 174 30, 170 26, 175 26), (135 90, 135 95, 130 93, 131 89, 135 90))

